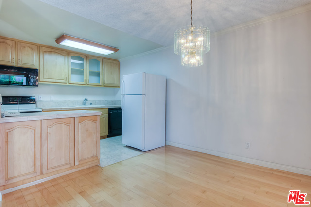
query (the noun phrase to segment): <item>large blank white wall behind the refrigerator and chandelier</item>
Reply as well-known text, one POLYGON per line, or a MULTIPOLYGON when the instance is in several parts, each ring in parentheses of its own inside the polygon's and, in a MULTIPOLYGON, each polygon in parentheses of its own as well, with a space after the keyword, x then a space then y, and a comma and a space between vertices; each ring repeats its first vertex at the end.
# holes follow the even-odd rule
POLYGON ((123 59, 121 75, 167 77, 167 143, 311 175, 310 22, 307 11, 219 33, 200 67, 173 47, 123 59))

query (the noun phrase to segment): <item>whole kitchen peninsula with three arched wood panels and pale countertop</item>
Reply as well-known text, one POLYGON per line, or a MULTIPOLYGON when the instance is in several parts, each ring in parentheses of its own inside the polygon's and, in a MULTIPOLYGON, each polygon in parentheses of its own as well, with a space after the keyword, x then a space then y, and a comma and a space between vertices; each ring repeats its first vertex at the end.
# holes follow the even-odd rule
POLYGON ((73 110, 1 118, 1 193, 98 165, 101 113, 73 110))

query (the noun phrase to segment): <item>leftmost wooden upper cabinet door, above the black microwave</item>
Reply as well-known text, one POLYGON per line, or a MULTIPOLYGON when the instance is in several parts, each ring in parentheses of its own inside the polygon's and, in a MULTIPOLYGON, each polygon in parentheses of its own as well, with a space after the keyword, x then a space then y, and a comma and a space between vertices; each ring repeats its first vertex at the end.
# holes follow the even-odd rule
POLYGON ((0 38, 0 64, 15 65, 15 41, 0 38))

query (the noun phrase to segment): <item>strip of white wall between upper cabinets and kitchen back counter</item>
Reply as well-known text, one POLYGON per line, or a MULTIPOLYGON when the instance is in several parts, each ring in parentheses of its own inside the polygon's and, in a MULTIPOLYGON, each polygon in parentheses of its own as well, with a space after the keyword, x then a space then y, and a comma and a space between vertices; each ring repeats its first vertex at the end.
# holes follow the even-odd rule
POLYGON ((0 86, 2 96, 42 96, 42 100, 121 100, 120 88, 72 86, 39 83, 38 87, 0 86))

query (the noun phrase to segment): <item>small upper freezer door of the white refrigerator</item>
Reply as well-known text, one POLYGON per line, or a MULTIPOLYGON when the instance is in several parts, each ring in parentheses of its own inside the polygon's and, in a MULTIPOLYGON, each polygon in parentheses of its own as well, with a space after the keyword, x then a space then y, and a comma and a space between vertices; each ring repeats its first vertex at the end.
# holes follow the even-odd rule
POLYGON ((146 73, 136 73, 123 75, 124 95, 145 94, 145 75, 146 73))

